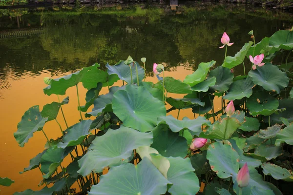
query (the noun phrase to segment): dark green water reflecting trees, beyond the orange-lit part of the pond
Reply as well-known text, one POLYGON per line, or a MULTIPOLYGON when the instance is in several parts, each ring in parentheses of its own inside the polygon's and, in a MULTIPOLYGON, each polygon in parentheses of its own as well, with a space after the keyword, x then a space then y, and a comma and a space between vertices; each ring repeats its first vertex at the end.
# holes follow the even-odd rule
MULTIPOLYGON (((184 65, 196 69, 212 59, 221 64, 220 39, 230 36, 234 55, 253 29, 256 42, 293 24, 290 13, 234 4, 185 3, 48 7, 0 10, 0 79, 26 71, 68 72, 101 63, 115 64, 131 55, 167 70, 184 65)), ((237 67, 238 68, 238 67, 237 67)), ((237 69, 235 70, 237 71, 237 69)), ((242 71, 242 68, 239 68, 242 71)))

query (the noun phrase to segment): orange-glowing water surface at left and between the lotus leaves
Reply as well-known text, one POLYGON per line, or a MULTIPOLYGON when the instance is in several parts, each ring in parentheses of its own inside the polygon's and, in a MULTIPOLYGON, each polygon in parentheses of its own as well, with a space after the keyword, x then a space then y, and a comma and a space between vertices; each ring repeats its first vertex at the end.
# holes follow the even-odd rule
MULTIPOLYGON (((173 72, 166 72, 165 77, 174 77, 176 79, 183 80, 186 75, 192 73, 191 70, 179 66, 173 72)), ((32 171, 19 174, 23 171, 24 167, 29 165, 29 160, 39 154, 44 149, 44 144, 46 143, 46 138, 43 136, 42 132, 36 132, 34 137, 29 139, 28 143, 25 144, 23 148, 18 146, 13 133, 17 130, 17 124, 21 121, 21 117, 26 110, 34 105, 40 105, 42 109, 43 105, 51 103, 52 101, 58 101, 57 96, 51 95, 46 96, 43 94, 42 89, 46 86, 43 83, 44 77, 51 77, 48 73, 42 73, 37 77, 26 76, 24 79, 19 80, 8 80, 11 85, 10 90, 5 90, 3 92, 3 99, 0 99, 0 118, 1 118, 1 142, 0 142, 0 176, 9 177, 15 180, 15 183, 10 187, 0 187, 1 195, 10 195, 14 192, 21 192, 26 189, 40 190, 43 186, 38 187, 38 184, 42 180, 42 175, 39 169, 34 169, 32 171)), ((9 79, 9 78, 7 78, 9 79)), ((157 82, 157 78, 148 77, 147 81, 157 82)), ((116 85, 121 86, 122 81, 116 83, 116 85)), ((81 105, 85 103, 85 93, 86 89, 79 85, 81 105)), ((104 87, 100 94, 108 93, 108 89, 104 87)), ((182 98, 184 95, 179 94, 168 94, 173 98, 182 98)), ((77 97, 76 88, 72 87, 66 91, 66 96, 69 96, 69 104, 63 106, 64 115, 66 117, 68 126, 71 126, 79 121, 79 113, 77 110, 77 97)), ((61 99, 66 96, 60 97, 61 99)), ((216 105, 215 110, 220 109, 221 103, 220 99, 215 100, 216 105)), ((170 105, 167 105, 167 109, 170 105)), ((91 109, 91 108, 90 108, 91 109)), ((168 114, 177 117, 178 110, 173 110, 168 114)), ((190 119, 194 118, 191 109, 182 110, 180 112, 179 119, 183 117, 188 117, 190 119)), ((62 114, 59 113, 58 121, 61 123, 63 130, 65 130, 65 123, 62 114)), ((44 131, 50 138, 57 138, 61 136, 61 132, 58 124, 55 121, 50 121, 44 126, 44 131)), ((65 158, 62 166, 67 166, 71 161, 70 158, 65 158)), ((77 186, 75 186, 77 187, 77 186)))

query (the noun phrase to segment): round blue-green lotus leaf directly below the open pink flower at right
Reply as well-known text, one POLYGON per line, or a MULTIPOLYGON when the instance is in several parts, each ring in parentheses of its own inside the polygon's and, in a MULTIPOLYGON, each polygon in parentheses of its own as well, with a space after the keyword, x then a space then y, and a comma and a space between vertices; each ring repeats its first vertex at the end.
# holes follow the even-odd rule
POLYGON ((272 63, 258 66, 255 70, 249 71, 248 76, 251 77, 254 84, 262 86, 267 91, 275 90, 277 94, 289 84, 286 73, 272 63))

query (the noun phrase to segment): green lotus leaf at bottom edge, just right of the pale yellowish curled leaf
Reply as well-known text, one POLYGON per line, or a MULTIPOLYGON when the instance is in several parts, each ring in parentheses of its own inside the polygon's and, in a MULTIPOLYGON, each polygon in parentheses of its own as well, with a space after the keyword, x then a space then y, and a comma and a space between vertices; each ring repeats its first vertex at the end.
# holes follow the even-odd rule
POLYGON ((189 158, 168 157, 170 168, 167 178, 173 185, 168 189, 171 195, 195 195, 199 191, 198 177, 193 173, 189 158))

